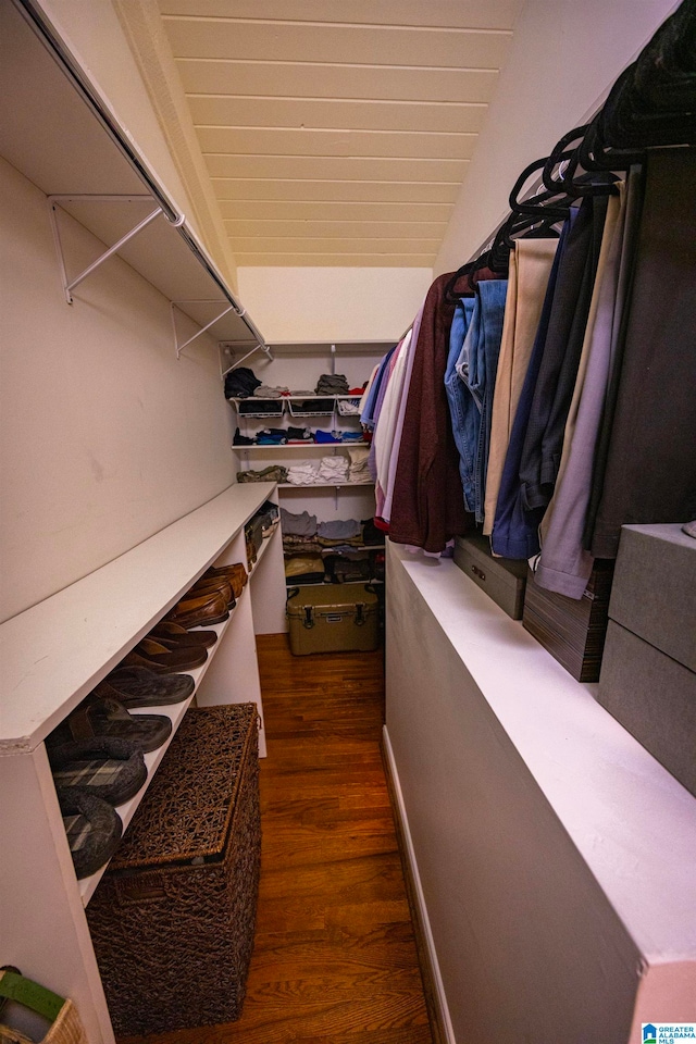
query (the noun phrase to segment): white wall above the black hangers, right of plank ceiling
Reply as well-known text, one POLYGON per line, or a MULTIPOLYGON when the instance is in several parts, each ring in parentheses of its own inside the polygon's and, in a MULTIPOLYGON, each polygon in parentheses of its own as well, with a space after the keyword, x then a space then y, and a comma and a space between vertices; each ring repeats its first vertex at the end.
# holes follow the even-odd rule
POLYGON ((526 0, 435 274, 476 253, 508 214, 518 175, 598 108, 676 7, 674 0, 526 0))

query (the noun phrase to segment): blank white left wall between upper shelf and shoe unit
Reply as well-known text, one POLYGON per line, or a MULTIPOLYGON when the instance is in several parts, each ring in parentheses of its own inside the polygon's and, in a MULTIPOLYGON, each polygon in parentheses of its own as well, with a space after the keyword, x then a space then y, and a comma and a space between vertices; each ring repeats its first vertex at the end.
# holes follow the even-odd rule
MULTIPOLYGON (((2 620, 211 499, 234 464, 214 341, 177 360, 169 301, 119 258, 66 304, 46 197, 3 160, 0 226, 2 620)), ((63 227, 79 271, 103 248, 63 227)))

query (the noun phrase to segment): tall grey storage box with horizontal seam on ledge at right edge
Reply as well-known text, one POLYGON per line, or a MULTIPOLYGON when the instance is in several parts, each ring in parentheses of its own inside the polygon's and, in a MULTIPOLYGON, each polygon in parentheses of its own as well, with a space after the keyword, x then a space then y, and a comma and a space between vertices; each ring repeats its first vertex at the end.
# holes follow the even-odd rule
POLYGON ((696 794, 696 540, 623 526, 598 701, 696 794))

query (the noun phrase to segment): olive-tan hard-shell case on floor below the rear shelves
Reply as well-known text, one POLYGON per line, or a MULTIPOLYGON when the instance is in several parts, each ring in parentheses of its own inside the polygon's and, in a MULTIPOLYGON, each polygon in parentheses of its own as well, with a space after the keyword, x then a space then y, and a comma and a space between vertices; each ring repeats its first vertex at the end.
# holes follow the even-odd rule
POLYGON ((291 587, 286 613, 290 651, 341 652, 380 645, 380 600, 371 584, 291 587))

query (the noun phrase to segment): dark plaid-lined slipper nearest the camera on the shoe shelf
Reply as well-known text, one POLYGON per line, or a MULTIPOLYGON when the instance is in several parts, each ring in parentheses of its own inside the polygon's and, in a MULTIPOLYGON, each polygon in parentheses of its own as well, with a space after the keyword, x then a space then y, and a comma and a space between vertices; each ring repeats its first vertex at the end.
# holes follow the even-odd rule
POLYGON ((70 854, 77 878, 88 878, 109 862, 119 847, 123 824, 116 810, 99 797, 76 787, 59 787, 70 854))

